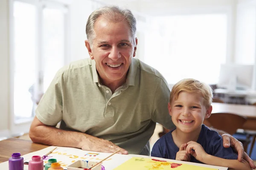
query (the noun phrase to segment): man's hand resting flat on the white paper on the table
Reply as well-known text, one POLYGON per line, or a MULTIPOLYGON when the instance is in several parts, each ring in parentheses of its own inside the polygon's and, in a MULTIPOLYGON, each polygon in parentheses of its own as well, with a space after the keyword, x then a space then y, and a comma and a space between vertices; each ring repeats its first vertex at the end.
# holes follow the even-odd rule
POLYGON ((94 136, 87 136, 85 140, 80 142, 79 146, 82 150, 90 150, 93 152, 114 153, 116 150, 120 149, 119 154, 128 154, 127 150, 118 147, 116 144, 94 136))

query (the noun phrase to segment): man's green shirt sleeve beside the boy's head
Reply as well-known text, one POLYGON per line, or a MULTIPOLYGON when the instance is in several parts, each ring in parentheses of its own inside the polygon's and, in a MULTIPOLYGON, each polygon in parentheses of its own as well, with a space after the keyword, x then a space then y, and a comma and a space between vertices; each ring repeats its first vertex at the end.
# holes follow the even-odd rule
POLYGON ((169 85, 163 77, 159 78, 159 82, 154 96, 154 112, 152 120, 154 122, 160 123, 167 129, 173 129, 175 128, 175 125, 173 124, 172 117, 169 115, 168 111, 169 98, 169 85))

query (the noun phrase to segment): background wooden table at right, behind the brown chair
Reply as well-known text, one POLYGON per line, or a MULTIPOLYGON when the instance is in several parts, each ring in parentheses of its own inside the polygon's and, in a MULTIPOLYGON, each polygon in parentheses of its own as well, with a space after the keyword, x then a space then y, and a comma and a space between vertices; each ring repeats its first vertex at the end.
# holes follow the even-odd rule
POLYGON ((256 130, 256 106, 212 103, 212 113, 233 113, 247 118, 243 129, 256 130))

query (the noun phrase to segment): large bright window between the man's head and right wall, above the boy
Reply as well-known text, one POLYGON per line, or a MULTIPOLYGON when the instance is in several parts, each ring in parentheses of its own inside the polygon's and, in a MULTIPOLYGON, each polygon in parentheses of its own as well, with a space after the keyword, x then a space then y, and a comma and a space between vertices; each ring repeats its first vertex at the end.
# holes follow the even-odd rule
POLYGON ((154 17, 151 26, 144 59, 169 84, 183 78, 218 81, 220 65, 226 62, 226 14, 154 17))

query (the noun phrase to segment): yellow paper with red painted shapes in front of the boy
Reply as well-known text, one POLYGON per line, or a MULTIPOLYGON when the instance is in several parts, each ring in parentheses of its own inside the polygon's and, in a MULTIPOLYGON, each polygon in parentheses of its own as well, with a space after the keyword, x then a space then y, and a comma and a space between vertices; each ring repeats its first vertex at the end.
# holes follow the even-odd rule
POLYGON ((208 167, 199 167, 190 164, 178 164, 175 162, 161 161, 150 158, 133 157, 119 165, 114 170, 218 170, 208 167))

